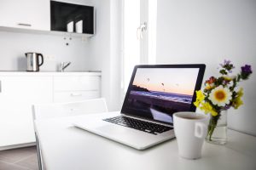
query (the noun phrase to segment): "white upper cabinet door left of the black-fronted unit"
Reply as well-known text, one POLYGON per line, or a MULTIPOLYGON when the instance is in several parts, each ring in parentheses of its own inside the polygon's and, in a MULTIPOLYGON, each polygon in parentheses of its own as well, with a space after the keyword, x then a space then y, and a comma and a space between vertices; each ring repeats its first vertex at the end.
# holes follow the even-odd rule
POLYGON ((49 0, 0 0, 0 26, 49 31, 49 0))

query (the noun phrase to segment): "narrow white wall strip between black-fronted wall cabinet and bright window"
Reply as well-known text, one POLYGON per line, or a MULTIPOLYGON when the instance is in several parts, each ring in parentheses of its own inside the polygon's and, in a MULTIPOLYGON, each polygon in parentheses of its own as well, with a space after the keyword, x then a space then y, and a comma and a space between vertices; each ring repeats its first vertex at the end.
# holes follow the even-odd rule
POLYGON ((120 110, 121 1, 95 1, 96 35, 90 38, 90 69, 102 70, 102 97, 109 111, 120 110))

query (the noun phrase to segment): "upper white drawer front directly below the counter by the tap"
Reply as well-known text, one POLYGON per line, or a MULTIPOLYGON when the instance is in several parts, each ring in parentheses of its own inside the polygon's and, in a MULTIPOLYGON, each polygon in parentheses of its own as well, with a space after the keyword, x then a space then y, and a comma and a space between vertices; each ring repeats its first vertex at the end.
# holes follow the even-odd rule
POLYGON ((55 91, 100 90, 100 77, 54 77, 55 91))

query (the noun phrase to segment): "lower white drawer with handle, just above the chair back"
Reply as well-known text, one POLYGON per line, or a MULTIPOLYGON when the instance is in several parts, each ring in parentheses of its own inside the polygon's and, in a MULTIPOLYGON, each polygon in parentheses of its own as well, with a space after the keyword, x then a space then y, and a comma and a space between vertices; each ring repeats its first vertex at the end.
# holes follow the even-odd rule
POLYGON ((54 102, 69 102, 96 98, 100 98, 100 91, 70 91, 54 93, 54 102))

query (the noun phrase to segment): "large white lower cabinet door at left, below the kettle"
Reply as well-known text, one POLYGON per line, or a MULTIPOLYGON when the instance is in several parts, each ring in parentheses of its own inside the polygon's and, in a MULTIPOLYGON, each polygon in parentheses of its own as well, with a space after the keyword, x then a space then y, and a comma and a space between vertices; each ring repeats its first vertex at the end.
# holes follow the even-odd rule
POLYGON ((52 102, 51 77, 0 77, 0 146, 35 141, 32 104, 52 102))

